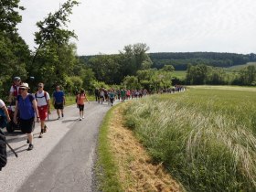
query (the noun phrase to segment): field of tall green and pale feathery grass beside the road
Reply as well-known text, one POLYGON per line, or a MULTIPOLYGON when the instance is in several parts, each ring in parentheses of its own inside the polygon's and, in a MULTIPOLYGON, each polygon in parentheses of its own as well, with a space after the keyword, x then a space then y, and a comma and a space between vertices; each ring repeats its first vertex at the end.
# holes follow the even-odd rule
POLYGON ((256 98, 191 89, 134 101, 126 125, 188 191, 256 191, 256 98))

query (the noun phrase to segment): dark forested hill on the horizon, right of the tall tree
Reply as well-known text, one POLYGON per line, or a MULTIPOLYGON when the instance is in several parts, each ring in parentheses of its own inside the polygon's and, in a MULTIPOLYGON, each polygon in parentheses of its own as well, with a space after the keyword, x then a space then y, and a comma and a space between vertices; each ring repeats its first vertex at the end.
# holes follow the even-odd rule
POLYGON ((256 61, 256 54, 218 53, 218 52, 161 52, 149 53, 153 68, 162 69, 172 65, 176 70, 186 70, 187 65, 205 64, 227 68, 256 61))

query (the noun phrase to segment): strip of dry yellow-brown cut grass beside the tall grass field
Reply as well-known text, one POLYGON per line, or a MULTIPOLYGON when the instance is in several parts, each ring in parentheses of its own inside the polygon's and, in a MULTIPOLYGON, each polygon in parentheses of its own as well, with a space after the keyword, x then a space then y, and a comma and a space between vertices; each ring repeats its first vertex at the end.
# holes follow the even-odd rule
POLYGON ((123 127, 122 114, 122 106, 112 112, 108 139, 123 190, 183 191, 162 165, 152 164, 150 156, 133 136, 133 132, 123 127))

